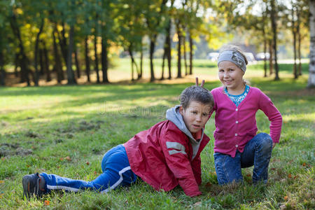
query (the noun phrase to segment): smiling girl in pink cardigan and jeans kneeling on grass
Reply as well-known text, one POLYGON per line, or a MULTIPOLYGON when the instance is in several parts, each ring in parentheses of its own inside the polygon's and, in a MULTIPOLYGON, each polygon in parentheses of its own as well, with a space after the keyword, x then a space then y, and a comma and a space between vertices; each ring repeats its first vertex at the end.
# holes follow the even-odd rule
POLYGON ((214 164, 220 185, 243 181, 241 168, 251 166, 253 183, 267 183, 272 148, 279 143, 281 134, 281 113, 269 97, 244 82, 246 64, 246 56, 234 45, 223 48, 218 56, 218 78, 223 87, 211 93, 216 111, 214 164), (270 135, 257 134, 258 109, 270 121, 270 135))

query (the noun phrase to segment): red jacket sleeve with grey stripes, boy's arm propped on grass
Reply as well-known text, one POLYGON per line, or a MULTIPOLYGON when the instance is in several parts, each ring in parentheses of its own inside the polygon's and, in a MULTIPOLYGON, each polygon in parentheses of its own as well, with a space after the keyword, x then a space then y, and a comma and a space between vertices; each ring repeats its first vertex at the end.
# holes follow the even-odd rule
POLYGON ((169 169, 173 172, 179 185, 186 195, 195 197, 201 195, 195 174, 188 159, 189 142, 182 132, 167 130, 161 140, 162 152, 169 169))

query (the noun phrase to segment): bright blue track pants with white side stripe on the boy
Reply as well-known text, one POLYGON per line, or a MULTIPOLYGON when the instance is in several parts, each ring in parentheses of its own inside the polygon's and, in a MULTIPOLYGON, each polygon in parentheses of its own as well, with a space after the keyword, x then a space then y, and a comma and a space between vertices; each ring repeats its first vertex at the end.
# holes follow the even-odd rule
POLYGON ((103 157, 102 171, 94 181, 73 180, 55 174, 41 173, 45 179, 45 190, 66 190, 78 192, 79 190, 96 190, 107 193, 118 186, 130 186, 137 180, 137 175, 130 169, 130 163, 123 145, 111 148, 103 157))

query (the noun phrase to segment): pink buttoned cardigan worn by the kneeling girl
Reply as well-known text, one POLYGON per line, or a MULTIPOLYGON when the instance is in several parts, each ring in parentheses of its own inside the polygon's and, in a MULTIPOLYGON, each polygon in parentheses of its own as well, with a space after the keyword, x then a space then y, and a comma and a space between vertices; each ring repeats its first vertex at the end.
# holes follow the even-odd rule
POLYGON ((257 87, 250 87, 247 96, 235 104, 224 93, 223 87, 211 90, 216 111, 216 130, 214 131, 214 151, 235 157, 244 151, 247 142, 255 137, 257 125, 255 115, 262 110, 270 121, 270 136, 274 143, 279 142, 282 117, 272 101, 257 87))

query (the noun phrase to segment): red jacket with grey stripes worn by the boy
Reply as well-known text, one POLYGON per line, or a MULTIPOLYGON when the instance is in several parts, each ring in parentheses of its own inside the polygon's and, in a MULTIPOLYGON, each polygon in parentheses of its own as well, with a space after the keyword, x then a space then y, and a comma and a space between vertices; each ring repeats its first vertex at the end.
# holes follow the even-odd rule
POLYGON ((186 195, 200 195, 200 153, 209 142, 203 134, 193 158, 190 139, 172 121, 165 120, 139 132, 124 146, 132 171, 155 190, 172 190, 178 184, 186 195), (193 158, 193 159, 192 159, 193 158))

